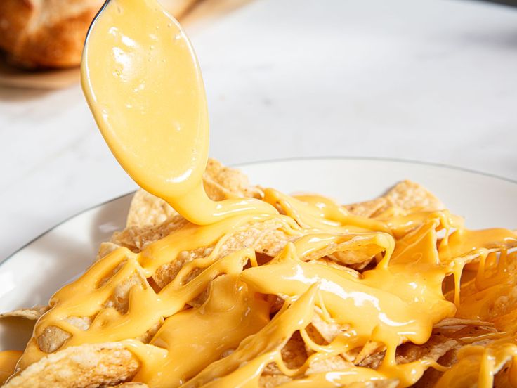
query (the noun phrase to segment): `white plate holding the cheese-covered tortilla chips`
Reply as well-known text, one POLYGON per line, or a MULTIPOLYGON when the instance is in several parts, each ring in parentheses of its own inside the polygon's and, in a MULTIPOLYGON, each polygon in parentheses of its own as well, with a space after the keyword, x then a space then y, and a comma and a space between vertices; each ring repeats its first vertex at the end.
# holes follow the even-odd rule
MULTIPOLYGON (((318 192, 343 203, 374 198, 402 179, 417 181, 466 217, 469 228, 517 227, 517 183, 452 167, 372 159, 303 159, 240 166, 254 183, 287 193, 318 192)), ((0 311, 46 304, 91 264, 98 245, 124 227, 131 194, 63 221, 0 263, 0 311)), ((0 325, 0 350, 25 337, 0 325)), ((15 330, 18 330, 15 325, 15 330)), ((21 332, 20 332, 21 333, 21 332)))

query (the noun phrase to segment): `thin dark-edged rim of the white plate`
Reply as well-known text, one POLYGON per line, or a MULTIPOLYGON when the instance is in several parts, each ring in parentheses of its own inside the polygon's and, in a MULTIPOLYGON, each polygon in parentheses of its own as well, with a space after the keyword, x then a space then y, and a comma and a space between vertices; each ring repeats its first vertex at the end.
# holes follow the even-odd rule
MULTIPOLYGON (((234 164, 228 164, 229 167, 247 167, 247 166, 253 166, 256 164, 266 164, 266 163, 281 163, 281 162, 296 162, 298 160, 369 160, 373 162, 397 162, 400 164, 418 164, 421 166, 431 166, 431 167, 440 167, 443 169, 452 169, 459 172, 469 172, 470 174, 476 174, 480 176, 488 176, 490 178, 499 179, 501 181, 506 181, 509 183, 513 183, 517 185, 517 180, 506 178, 504 176, 499 176, 497 174, 491 174, 489 172, 481 172, 476 169, 469 169, 466 167, 459 167, 459 166, 453 166, 451 164, 444 164, 444 163, 438 163, 438 162, 425 162, 422 160, 410 160, 410 159, 401 159, 397 157, 368 157, 368 156, 310 156, 310 157, 284 157, 284 158, 273 158, 273 159, 265 159, 265 160, 254 160, 251 162, 241 162, 241 163, 234 163, 234 164)), ((51 233, 55 228, 58 228, 59 226, 65 224, 65 222, 70 221, 71 219, 74 219, 77 216, 80 216, 81 214, 84 214, 86 212, 89 212, 90 210, 96 209, 97 207, 101 207, 104 205, 107 205, 110 202, 114 202, 116 200, 119 200, 123 197, 126 197, 127 195, 130 195, 132 193, 135 193, 136 190, 131 190, 127 193, 121 194, 115 198, 111 198, 110 200, 106 200, 104 202, 99 202, 96 205, 92 205, 90 207, 87 207, 86 209, 82 209, 81 211, 74 213, 70 216, 67 216, 65 219, 59 221, 57 224, 52 226, 51 228, 48 228, 46 231, 40 233, 39 235, 35 236, 34 238, 30 239, 27 243, 19 247, 17 250, 9 254, 6 258, 0 260, 0 269, 1 267, 9 260, 12 259, 16 254, 21 252, 22 250, 25 250, 29 245, 34 243, 36 240, 39 240, 39 238, 44 237, 44 235, 51 233)))

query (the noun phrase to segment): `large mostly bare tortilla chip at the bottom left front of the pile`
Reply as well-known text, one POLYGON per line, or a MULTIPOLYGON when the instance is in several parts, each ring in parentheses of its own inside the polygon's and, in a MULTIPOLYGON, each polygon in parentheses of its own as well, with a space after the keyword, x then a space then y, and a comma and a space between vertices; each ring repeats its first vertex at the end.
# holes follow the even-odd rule
POLYGON ((50 354, 13 377, 6 388, 82 388, 116 385, 136 375, 140 363, 117 342, 84 344, 50 354))

